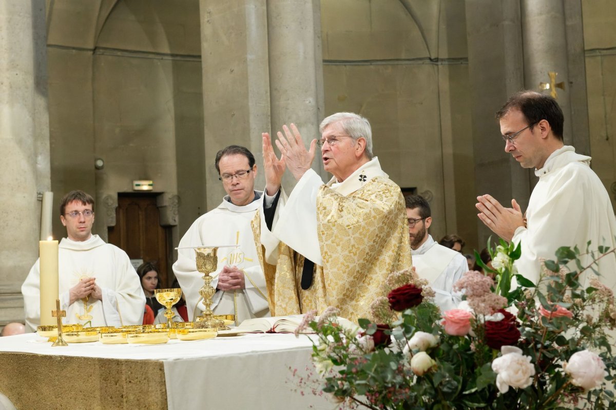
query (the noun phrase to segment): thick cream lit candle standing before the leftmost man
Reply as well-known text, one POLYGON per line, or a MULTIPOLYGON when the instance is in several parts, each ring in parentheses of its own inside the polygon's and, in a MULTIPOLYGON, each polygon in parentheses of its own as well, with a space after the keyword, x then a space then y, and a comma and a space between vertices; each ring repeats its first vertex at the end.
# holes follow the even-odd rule
POLYGON ((39 241, 39 265, 41 270, 41 326, 57 325, 52 317, 55 299, 58 296, 58 241, 39 241))

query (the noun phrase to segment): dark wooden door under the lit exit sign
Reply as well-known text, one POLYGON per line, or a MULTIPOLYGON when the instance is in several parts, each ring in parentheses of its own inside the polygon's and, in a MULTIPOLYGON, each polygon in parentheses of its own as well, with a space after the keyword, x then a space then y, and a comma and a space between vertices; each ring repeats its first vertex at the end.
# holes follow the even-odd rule
POLYGON ((118 193, 116 225, 109 227, 109 243, 118 246, 131 259, 155 261, 160 269, 158 282, 168 288, 168 243, 171 232, 160 226, 160 211, 156 195, 145 193, 118 193))

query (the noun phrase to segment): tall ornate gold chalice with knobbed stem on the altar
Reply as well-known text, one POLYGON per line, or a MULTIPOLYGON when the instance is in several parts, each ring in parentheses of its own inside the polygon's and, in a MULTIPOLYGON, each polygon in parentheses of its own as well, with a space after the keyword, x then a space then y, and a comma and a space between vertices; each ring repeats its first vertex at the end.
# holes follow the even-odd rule
POLYGON ((218 251, 217 246, 209 248, 195 248, 197 254, 197 270, 203 274, 203 286, 199 290, 201 298, 203 298, 203 305, 205 310, 201 312, 201 316, 195 318, 195 328, 221 328, 225 329, 224 321, 214 317, 212 313, 212 296, 216 293, 216 289, 211 285, 212 277, 211 273, 216 271, 218 266, 218 258, 216 253, 218 251))

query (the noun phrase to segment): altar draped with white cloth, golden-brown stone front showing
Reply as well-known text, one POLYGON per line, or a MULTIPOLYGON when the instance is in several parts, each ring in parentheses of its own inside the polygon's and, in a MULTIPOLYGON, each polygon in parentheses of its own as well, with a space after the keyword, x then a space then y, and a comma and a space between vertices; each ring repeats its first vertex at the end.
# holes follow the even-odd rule
POLYGON ((0 393, 17 410, 332 409, 292 375, 311 352, 293 334, 51 347, 28 333, 0 337, 0 393))

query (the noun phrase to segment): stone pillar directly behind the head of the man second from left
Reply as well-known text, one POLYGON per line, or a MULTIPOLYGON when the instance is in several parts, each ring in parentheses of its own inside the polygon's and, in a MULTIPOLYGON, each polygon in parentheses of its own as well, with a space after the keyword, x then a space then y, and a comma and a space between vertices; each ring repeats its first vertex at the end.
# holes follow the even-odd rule
MULTIPOLYGON (((214 168, 230 144, 253 152, 265 186, 261 133, 270 128, 267 5, 265 0, 200 0, 203 122, 208 210, 224 195, 214 168)), ((180 198, 181 200, 181 198, 180 198)))

